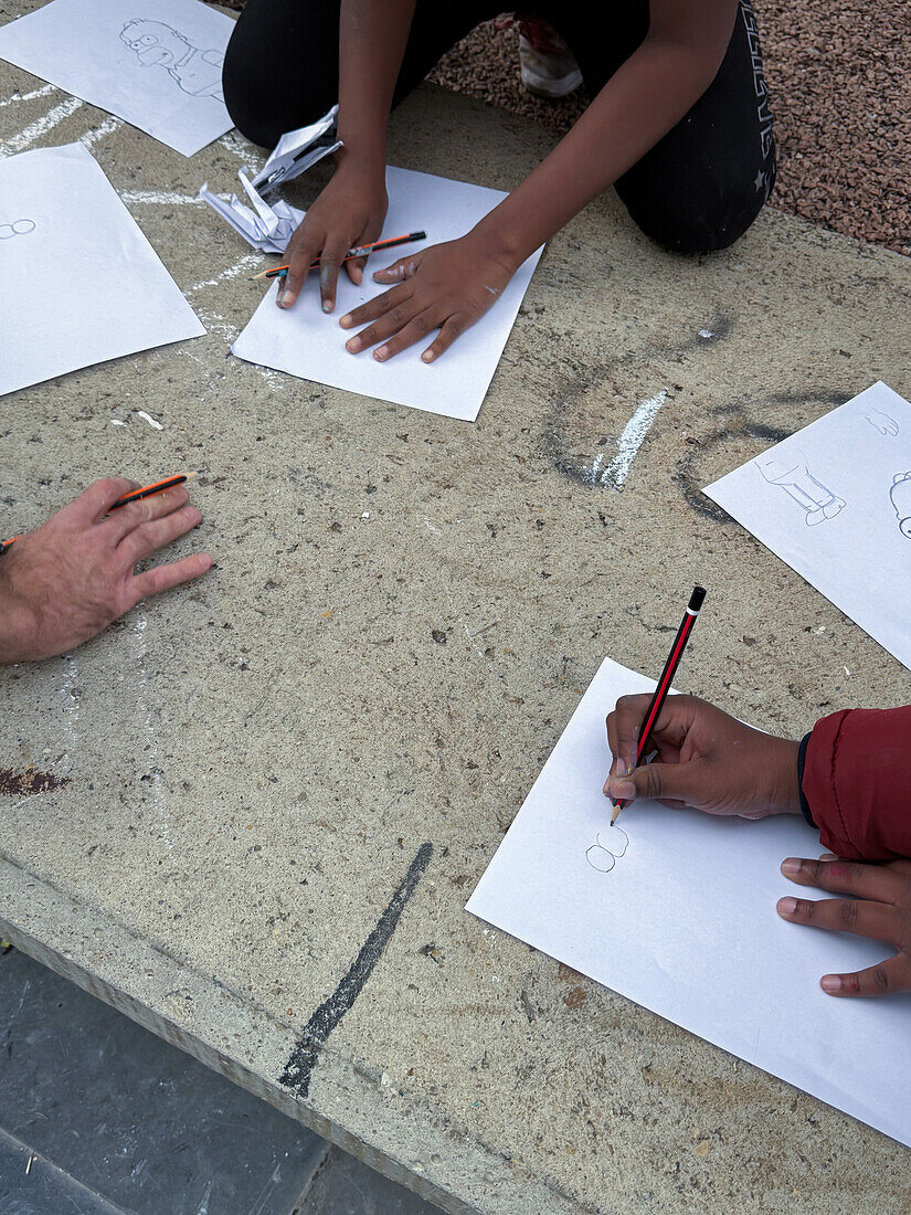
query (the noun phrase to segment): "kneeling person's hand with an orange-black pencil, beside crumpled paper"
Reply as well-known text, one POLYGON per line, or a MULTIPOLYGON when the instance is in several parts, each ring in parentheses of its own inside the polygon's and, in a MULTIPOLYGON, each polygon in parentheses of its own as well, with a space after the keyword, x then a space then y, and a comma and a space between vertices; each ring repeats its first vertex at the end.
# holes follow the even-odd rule
MULTIPOLYGON (((384 168, 339 153, 338 168, 288 242, 288 275, 278 283, 278 306, 290 307, 319 259, 319 294, 323 312, 335 307, 339 266, 349 249, 378 241, 389 198, 384 168)), ((345 262, 352 283, 363 278, 366 258, 345 262)))

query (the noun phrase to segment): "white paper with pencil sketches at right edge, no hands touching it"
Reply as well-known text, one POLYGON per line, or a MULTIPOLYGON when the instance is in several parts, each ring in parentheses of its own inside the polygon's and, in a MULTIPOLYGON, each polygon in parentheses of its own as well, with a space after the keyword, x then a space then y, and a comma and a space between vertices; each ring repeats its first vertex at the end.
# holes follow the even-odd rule
POLYGON ((911 405, 883 383, 705 491, 911 667, 911 405))

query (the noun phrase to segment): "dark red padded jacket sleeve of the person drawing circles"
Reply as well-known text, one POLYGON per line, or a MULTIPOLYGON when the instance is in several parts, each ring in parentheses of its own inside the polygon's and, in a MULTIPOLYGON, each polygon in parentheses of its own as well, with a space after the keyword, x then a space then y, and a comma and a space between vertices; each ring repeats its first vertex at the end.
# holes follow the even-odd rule
POLYGON ((847 708, 816 722, 800 789, 830 852, 911 857, 911 705, 847 708))

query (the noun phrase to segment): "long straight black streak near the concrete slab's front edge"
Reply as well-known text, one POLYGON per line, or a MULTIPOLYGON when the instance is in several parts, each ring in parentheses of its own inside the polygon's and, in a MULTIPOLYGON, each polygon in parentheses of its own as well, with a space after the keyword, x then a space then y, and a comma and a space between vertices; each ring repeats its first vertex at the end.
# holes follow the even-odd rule
POLYGON ((351 963, 347 974, 345 974, 329 999, 319 1005, 304 1027, 304 1032, 298 1039, 298 1044, 292 1051, 284 1070, 278 1076, 278 1083, 290 1089, 296 1096, 305 1098, 310 1092, 310 1079, 323 1044, 345 1013, 352 1007, 364 983, 373 973, 373 968, 383 956, 383 951, 398 925, 398 919, 412 894, 418 888, 418 882, 424 876, 432 854, 434 846, 431 843, 423 843, 418 848, 414 860, 408 866, 408 872, 389 900, 385 911, 379 917, 377 927, 364 942, 361 953, 351 963))

